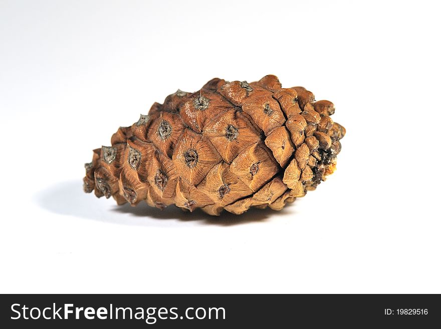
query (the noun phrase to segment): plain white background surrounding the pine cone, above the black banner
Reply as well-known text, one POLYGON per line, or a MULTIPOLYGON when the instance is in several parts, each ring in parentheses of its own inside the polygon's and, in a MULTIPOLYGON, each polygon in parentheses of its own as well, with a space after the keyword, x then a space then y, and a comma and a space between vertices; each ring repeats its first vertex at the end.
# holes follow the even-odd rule
POLYGON ((0 1, 0 292, 441 292, 435 2, 0 1), (213 77, 336 105, 337 171, 280 212, 82 191, 119 126, 213 77))

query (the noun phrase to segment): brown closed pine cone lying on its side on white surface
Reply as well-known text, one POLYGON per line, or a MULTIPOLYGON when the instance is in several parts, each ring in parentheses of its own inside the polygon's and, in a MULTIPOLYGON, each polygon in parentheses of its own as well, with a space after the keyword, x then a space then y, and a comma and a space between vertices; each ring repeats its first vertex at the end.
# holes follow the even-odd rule
POLYGON ((331 102, 282 88, 273 75, 250 84, 216 78, 120 127, 85 165, 84 191, 210 215, 280 210, 335 170, 345 129, 333 113, 331 102))

